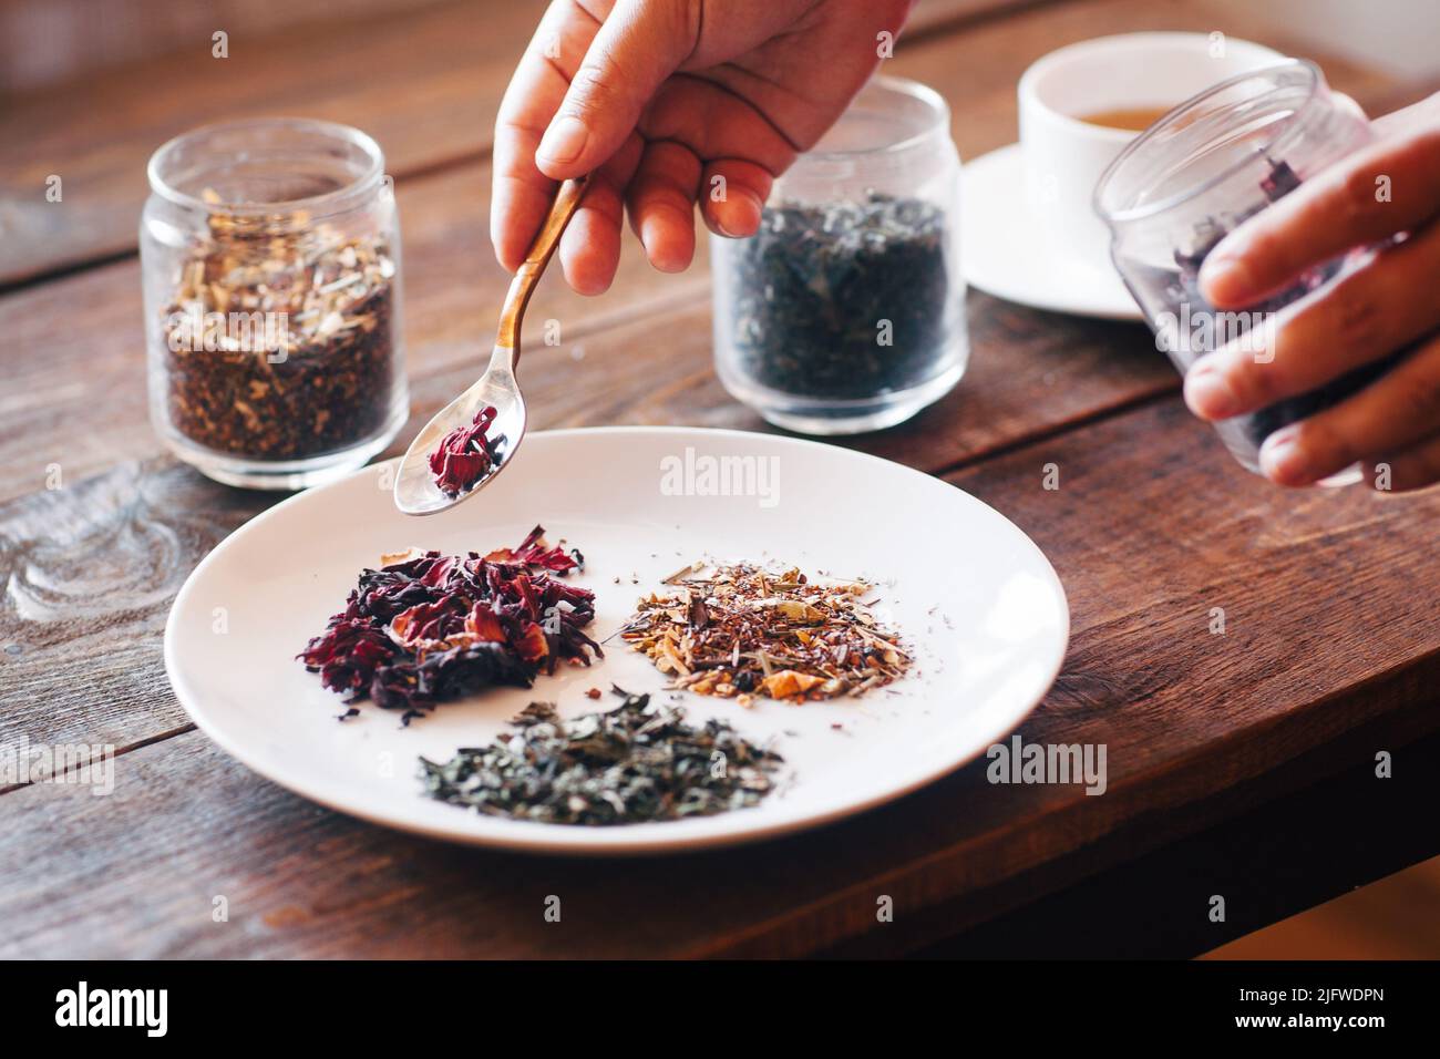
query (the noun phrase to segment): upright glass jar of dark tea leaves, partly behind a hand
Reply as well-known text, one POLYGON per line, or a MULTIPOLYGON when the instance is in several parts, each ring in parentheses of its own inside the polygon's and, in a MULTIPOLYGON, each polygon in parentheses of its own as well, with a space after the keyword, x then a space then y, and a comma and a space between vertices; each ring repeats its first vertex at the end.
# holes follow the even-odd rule
POLYGON ((965 372, 960 158, 945 101, 874 78, 775 182, 759 232, 710 241, 716 373, 769 422, 855 434, 965 372))

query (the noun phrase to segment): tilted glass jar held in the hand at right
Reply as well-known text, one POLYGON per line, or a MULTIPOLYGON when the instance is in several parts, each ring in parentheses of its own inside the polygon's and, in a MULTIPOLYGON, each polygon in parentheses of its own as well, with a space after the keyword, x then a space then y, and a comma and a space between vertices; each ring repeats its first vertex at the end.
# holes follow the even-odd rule
MULTIPOLYGON (((1354 101, 1332 94, 1315 63, 1292 59, 1188 99, 1110 164, 1094 192, 1094 207, 1110 228, 1110 258, 1181 373, 1231 341, 1248 343, 1264 363, 1276 314, 1368 259, 1372 249, 1356 248, 1234 311, 1217 311, 1198 287, 1201 264, 1227 232, 1371 140, 1354 101)), ((1236 460, 1259 474, 1260 445, 1270 434, 1354 393, 1390 363, 1367 365, 1215 429, 1236 460)), ((1348 468, 1322 484, 1359 477, 1348 468)))

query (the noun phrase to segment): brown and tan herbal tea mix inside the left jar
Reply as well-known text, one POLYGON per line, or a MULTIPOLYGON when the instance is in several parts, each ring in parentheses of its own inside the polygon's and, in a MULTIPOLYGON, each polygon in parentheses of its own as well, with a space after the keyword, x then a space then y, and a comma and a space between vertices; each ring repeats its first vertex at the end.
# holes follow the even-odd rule
POLYGON ((219 452, 302 460, 384 428, 396 268, 383 238, 210 213, 186 254, 160 329, 174 429, 219 452))

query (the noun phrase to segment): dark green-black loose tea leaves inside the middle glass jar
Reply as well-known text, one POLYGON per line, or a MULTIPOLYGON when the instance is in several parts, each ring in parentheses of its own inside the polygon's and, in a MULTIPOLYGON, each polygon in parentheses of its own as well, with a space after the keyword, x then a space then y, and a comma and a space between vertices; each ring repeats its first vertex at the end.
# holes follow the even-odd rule
POLYGON ((740 370, 814 398, 927 382, 950 339, 945 255, 945 212, 920 199, 766 207, 730 256, 740 370))

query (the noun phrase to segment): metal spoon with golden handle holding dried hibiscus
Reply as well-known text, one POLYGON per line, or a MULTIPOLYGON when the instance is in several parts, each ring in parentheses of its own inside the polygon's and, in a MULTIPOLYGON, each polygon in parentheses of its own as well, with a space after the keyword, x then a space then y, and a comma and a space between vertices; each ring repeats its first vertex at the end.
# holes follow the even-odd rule
POLYGON ((526 434, 526 402, 520 396, 520 383, 516 382, 516 365, 520 362, 520 320, 526 314, 536 284, 540 282, 540 274, 560 243, 560 235, 575 216, 580 199, 585 197, 588 180, 589 177, 583 176, 560 184, 540 233, 530 243, 530 252, 516 271, 516 278, 510 281, 505 304, 500 310, 500 331, 495 336, 495 349, 490 354, 490 367, 480 376, 480 382, 442 408, 415 435, 415 441, 405 452, 400 470, 395 475, 395 506, 406 514, 435 514, 468 500, 494 481, 520 448, 520 439, 526 434), (471 425, 480 409, 487 405, 494 406, 497 412, 488 431, 488 437, 495 442, 494 464, 485 477, 464 493, 456 496, 442 493, 435 484, 435 475, 431 474, 431 452, 439 448, 441 441, 452 429, 471 425))

